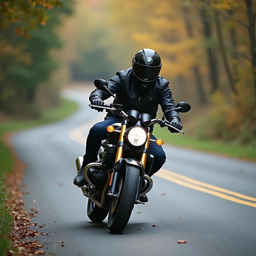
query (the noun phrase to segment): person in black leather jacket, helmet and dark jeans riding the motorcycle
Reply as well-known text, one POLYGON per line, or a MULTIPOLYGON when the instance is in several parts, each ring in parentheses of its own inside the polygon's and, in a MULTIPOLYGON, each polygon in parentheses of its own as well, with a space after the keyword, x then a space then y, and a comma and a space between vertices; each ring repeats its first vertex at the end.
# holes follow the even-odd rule
MULTIPOLYGON (((141 114, 150 114, 152 119, 156 118, 158 105, 161 106, 163 112, 175 108, 176 105, 172 98, 172 92, 168 87, 169 82, 159 76, 161 68, 162 62, 157 52, 147 48, 138 51, 133 57, 132 67, 118 71, 116 76, 108 81, 108 89, 113 94, 116 94, 114 103, 123 105, 123 111, 126 113, 129 110, 137 110, 141 114)), ((109 92, 95 89, 90 94, 89 100, 92 105, 102 106, 104 100, 110 96, 109 92)), ((103 111, 103 109, 99 108, 97 110, 98 112, 103 111)), ((180 116, 177 111, 169 111, 165 116, 172 126, 179 130, 182 129, 180 116)), ((76 186, 84 186, 86 184, 86 179, 83 175, 84 167, 89 163, 95 162, 97 159, 101 141, 105 140, 107 136, 106 127, 113 123, 121 123, 122 120, 123 118, 120 115, 108 112, 104 121, 93 125, 90 129, 83 164, 73 181, 76 186)), ((168 130, 171 133, 178 133, 178 131, 170 127, 168 130)), ((151 138, 156 139, 153 134, 151 138)), ((166 155, 162 146, 158 146, 152 141, 149 145, 149 154, 155 156, 149 174, 149 176, 152 176, 164 165, 166 155)), ((140 201, 147 202, 147 196, 140 197, 140 201)))

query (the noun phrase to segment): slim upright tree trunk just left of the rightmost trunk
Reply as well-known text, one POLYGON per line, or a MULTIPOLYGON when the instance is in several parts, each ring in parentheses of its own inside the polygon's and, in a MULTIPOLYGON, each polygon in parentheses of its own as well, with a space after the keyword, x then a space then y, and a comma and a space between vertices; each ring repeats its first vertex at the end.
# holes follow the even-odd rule
MULTIPOLYGON (((228 10, 228 14, 230 16, 233 15, 233 10, 228 10)), ((234 83, 237 83, 239 81, 239 76, 238 76, 238 54, 237 54, 237 38, 236 38, 236 29, 232 27, 229 31, 230 33, 230 41, 231 41, 231 46, 232 46, 232 59, 233 65, 233 81, 234 83)))

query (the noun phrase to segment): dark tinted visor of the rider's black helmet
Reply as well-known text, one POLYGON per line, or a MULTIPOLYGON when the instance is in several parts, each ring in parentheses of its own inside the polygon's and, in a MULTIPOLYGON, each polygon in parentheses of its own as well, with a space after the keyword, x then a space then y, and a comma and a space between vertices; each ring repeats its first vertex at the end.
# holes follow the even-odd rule
POLYGON ((135 61, 134 66, 133 66, 133 71, 135 75, 145 81, 145 82, 150 82, 155 80, 161 70, 161 65, 158 67, 152 67, 152 66, 144 66, 135 61))

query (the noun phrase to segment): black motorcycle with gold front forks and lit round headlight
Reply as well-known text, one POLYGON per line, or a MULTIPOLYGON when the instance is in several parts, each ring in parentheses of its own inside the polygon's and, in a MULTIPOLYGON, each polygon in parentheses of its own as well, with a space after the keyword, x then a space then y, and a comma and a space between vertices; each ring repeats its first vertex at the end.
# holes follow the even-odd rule
MULTIPOLYGON (((94 85, 100 90, 108 91, 108 83, 103 79, 94 80, 94 85)), ((115 101, 114 101, 115 102, 115 101)), ((162 119, 152 119, 149 114, 140 114, 136 110, 125 113, 122 105, 111 103, 103 106, 89 104, 90 107, 105 109, 106 112, 119 114, 122 123, 114 123, 108 127, 107 138, 102 141, 97 160, 84 168, 87 184, 82 189, 83 195, 88 197, 87 215, 92 222, 102 222, 108 215, 108 228, 111 233, 119 234, 126 227, 134 204, 140 202, 140 197, 148 193, 153 187, 150 170, 154 156, 149 154, 150 141, 163 145, 163 140, 152 140, 153 124, 160 127, 172 127, 165 120, 165 113, 178 111, 186 113, 191 106, 186 102, 179 102, 174 109, 167 110, 162 119)), ((79 172, 83 157, 76 159, 79 172)))

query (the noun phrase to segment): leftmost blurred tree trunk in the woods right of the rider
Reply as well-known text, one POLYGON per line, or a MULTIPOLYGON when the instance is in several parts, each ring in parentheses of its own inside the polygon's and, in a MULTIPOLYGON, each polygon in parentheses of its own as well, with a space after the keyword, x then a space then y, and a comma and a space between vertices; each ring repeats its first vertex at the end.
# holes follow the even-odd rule
MULTIPOLYGON (((186 25, 188 37, 193 38, 194 35, 193 35, 193 31, 192 31, 191 21, 189 18, 188 8, 182 7, 182 11, 184 13, 184 19, 185 19, 185 25, 186 25)), ((194 50, 193 50, 193 52, 194 52, 194 50)), ((203 83, 202 83, 202 79, 201 79, 200 69, 199 69, 198 65, 194 65, 191 69, 194 73, 194 79, 195 79, 195 83, 196 83, 198 95, 199 95, 199 101, 202 105, 204 105, 207 103, 207 100, 206 100, 205 91, 204 91, 204 87, 203 87, 203 83)))

